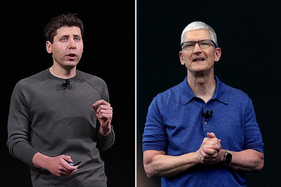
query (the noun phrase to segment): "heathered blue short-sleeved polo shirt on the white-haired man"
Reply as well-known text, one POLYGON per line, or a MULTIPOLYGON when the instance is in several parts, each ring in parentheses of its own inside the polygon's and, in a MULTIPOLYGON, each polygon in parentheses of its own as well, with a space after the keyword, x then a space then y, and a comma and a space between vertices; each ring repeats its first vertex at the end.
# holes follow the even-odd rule
MULTIPOLYGON (((263 140, 251 99, 214 76, 214 96, 205 103, 185 80, 158 94, 149 106, 143 134, 143 151, 165 151, 180 156, 197 151, 207 132, 221 139, 222 149, 263 151, 263 140), (211 117, 202 113, 213 111, 211 117)), ((245 175, 222 164, 198 164, 190 170, 162 178, 163 186, 246 186, 245 175)))

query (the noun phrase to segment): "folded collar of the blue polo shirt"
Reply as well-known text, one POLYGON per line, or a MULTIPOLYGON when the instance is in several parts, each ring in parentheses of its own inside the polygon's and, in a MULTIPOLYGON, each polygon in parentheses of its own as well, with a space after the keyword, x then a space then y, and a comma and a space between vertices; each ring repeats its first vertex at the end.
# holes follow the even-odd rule
MULTIPOLYGON (((226 92, 226 85, 222 83, 217 76, 214 76, 214 79, 216 80, 217 86, 214 95, 211 99, 218 99, 220 102, 227 104, 228 98, 226 92)), ((192 92, 187 82, 187 76, 186 76, 185 80, 182 83, 180 83, 181 104, 184 105, 188 103, 192 98, 197 98, 197 96, 192 92)))

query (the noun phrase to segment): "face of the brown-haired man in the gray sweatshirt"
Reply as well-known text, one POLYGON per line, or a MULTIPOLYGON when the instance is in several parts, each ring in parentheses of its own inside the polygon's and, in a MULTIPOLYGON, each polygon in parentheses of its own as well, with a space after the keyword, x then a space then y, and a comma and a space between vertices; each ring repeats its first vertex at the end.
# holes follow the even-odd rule
POLYGON ((54 65, 67 69, 75 67, 83 51, 80 28, 76 26, 59 28, 53 43, 47 41, 46 46, 48 53, 53 54, 54 65))

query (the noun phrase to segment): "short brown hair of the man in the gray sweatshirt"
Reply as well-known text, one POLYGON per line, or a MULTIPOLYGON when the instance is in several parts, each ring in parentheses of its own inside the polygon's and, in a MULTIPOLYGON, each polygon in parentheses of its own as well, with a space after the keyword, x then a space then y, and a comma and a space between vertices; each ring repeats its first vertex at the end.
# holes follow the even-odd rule
POLYGON ((81 31, 81 36, 83 37, 83 22, 75 15, 76 14, 68 13, 67 15, 59 15, 57 17, 52 18, 45 27, 45 37, 47 41, 53 43, 54 36, 57 35, 57 30, 63 26, 79 27, 81 31))

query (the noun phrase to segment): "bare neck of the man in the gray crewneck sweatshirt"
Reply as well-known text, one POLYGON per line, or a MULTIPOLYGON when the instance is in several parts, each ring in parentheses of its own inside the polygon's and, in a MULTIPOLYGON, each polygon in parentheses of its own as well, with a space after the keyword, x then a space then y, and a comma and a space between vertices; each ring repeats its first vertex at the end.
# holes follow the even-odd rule
POLYGON ((69 79, 76 75, 76 66, 71 68, 63 68, 62 66, 53 65, 50 68, 50 73, 55 77, 69 79))

